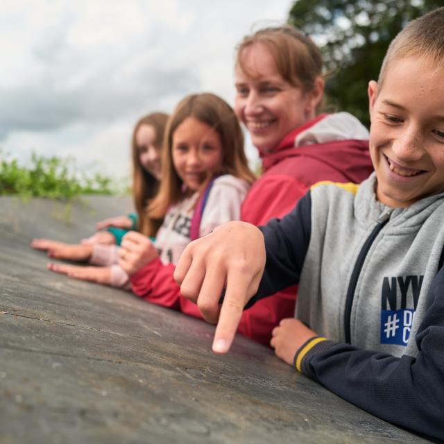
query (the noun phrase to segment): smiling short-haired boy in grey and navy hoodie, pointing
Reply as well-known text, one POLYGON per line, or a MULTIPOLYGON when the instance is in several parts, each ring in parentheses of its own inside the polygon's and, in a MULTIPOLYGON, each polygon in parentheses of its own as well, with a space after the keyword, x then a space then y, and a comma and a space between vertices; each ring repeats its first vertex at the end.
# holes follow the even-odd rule
POLYGON ((228 223, 190 244, 184 296, 225 353, 243 307, 299 282, 275 353, 385 420, 444 439, 444 8, 393 40, 368 86, 375 173, 321 183, 259 231, 228 223), (219 295, 226 287, 225 299, 219 295), (307 327, 309 325, 309 327, 307 327))

